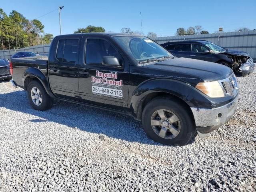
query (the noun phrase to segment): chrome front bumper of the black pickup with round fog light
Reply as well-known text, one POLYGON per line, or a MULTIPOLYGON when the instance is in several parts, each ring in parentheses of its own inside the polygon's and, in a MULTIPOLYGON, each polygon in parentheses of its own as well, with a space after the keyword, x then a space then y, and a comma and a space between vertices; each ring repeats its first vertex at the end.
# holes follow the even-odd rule
POLYGON ((238 94, 236 98, 218 108, 194 108, 191 107, 196 123, 196 130, 202 134, 207 134, 228 122, 236 112, 238 94))

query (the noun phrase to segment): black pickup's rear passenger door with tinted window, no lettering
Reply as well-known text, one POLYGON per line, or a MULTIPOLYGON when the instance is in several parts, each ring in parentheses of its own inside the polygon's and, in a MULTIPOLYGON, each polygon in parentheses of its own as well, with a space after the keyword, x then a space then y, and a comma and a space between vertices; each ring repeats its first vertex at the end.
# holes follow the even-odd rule
POLYGON ((59 39, 57 44, 57 50, 48 63, 52 92, 59 98, 80 101, 77 66, 79 38, 59 39))

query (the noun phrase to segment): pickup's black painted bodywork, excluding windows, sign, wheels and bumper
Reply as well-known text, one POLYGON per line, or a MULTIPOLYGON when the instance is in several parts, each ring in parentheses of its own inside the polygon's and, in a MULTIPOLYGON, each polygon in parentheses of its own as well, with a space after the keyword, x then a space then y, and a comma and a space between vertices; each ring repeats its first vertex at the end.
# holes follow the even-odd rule
POLYGON ((199 82, 227 78, 233 73, 230 68, 188 58, 170 58, 162 62, 139 65, 114 41, 112 36, 116 35, 128 34, 90 33, 56 36, 50 46, 48 62, 35 58, 12 59, 13 80, 24 88, 26 78, 32 76, 40 80, 53 98, 114 110, 133 115, 135 118, 143 98, 154 92, 172 94, 182 99, 188 106, 198 108, 215 108, 234 99, 231 96, 209 98, 194 88, 199 82), (78 58, 73 66, 65 65, 56 59, 58 40, 70 38, 79 40, 78 58), (122 56, 121 66, 114 68, 86 64, 84 52, 87 38, 99 38, 109 42, 122 56), (97 70, 118 73, 116 80, 123 82, 122 98, 92 93, 92 76, 96 75, 97 70))

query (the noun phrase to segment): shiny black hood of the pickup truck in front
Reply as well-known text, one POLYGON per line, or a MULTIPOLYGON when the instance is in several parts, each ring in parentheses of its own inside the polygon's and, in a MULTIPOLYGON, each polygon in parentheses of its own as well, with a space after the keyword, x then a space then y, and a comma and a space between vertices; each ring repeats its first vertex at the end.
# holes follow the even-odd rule
POLYGON ((144 67, 154 69, 154 75, 170 76, 179 79, 197 79, 198 82, 216 81, 228 78, 233 71, 221 64, 190 59, 174 58, 148 64, 144 67))

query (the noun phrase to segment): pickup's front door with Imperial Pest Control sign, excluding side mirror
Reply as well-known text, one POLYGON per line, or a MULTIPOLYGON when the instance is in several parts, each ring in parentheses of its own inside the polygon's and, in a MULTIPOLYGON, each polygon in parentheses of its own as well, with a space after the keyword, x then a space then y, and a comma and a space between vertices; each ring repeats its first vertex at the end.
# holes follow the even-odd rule
POLYGON ((85 40, 85 57, 79 70, 82 102, 125 110, 128 102, 129 63, 111 41, 101 38, 85 40), (118 58, 120 67, 102 65, 103 56, 118 58))

